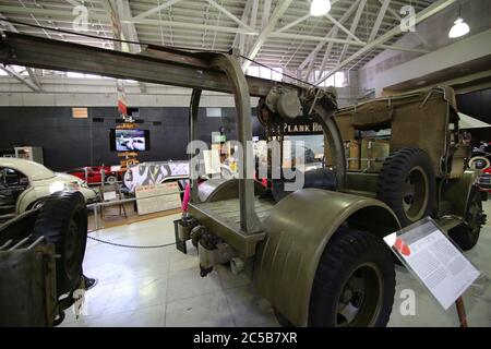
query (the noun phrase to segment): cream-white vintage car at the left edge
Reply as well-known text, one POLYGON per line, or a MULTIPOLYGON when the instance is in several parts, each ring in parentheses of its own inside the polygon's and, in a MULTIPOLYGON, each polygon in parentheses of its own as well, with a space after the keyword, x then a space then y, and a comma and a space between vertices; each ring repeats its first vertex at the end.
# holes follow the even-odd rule
POLYGON ((79 191, 87 204, 98 200, 97 193, 80 178, 56 173, 34 161, 0 157, 0 216, 19 215, 61 191, 79 191))

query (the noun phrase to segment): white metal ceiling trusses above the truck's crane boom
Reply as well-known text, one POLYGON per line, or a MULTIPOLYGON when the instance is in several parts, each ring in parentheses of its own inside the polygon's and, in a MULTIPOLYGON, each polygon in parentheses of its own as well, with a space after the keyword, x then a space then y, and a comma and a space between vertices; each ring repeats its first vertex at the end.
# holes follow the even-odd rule
MULTIPOLYGON (((339 69, 361 67, 364 62, 384 49, 400 50, 417 53, 428 53, 426 48, 397 47, 394 44, 400 32, 398 23, 400 15, 392 9, 407 4, 398 0, 376 0, 367 4, 368 0, 332 0, 332 11, 324 16, 327 25, 316 26, 319 22, 311 21, 309 1, 292 0, 86 0, 91 5, 88 24, 91 34, 107 36, 113 32, 107 12, 108 1, 115 1, 117 19, 124 38, 149 44, 176 45, 190 49, 227 50, 239 48, 240 52, 251 60, 265 64, 283 67, 284 71, 297 72, 309 76, 314 70, 330 70, 334 74, 339 69), (152 4, 153 2, 153 4, 152 4), (209 15, 203 16, 207 5, 209 15), (163 12, 165 11, 165 12, 163 12), (163 15, 165 14, 165 16, 163 15), (366 15, 362 15, 366 14, 366 15), (187 21, 189 19, 189 21, 187 21), (201 20, 201 21, 200 21, 201 20), (328 23, 327 23, 328 22, 328 23), (97 24, 98 23, 98 24, 97 24), (96 28, 97 24, 97 28, 96 28), (160 33, 154 27, 160 28, 160 33), (364 32, 364 28, 369 28, 364 32), (388 29, 393 27, 393 29, 388 29), (325 32, 323 32, 325 28, 325 32), (363 28, 363 31, 361 31, 363 28), (310 32, 309 32, 310 31, 310 32), (96 32, 96 33, 95 33, 96 32), (195 35, 199 32, 200 35, 195 35), (101 33, 101 34, 99 34, 101 33), (207 35, 207 33, 214 33, 207 35), (306 34, 310 33, 310 35, 306 34), (367 33, 363 35, 363 33, 367 33), (196 39, 200 37, 200 39, 196 39), (287 45, 297 47, 288 59, 282 55, 282 48, 287 45), (307 74, 306 74, 307 73, 307 74)), ((24 1, 25 2, 25 1, 24 1)), ((70 3, 53 2, 53 0, 37 0, 36 7, 22 2, 0 4, 0 12, 9 19, 36 23, 46 26, 71 28, 73 14, 70 3), (27 20, 26 20, 27 19, 27 20), (57 22, 55 24, 55 21, 57 22)), ((456 0, 411 0, 411 4, 421 10, 418 15, 440 11, 440 4, 448 4, 456 0), (427 11, 428 10, 428 11, 427 11)), ((64 40, 97 45, 112 48, 111 41, 97 41, 81 36, 51 33, 17 26, 23 33, 40 34, 46 37, 60 37, 64 40)), ((12 26, 15 29, 14 26, 12 26)), ((12 31, 12 28, 9 28, 12 31)), ((414 33, 418 35, 417 33, 414 33)), ((141 50, 139 45, 129 44, 130 52, 141 50)), ((251 61, 243 61, 247 69, 251 61)), ((29 71, 34 85, 39 85, 37 74, 29 71)), ((331 75, 318 79, 322 83, 331 75), (322 80, 322 81, 321 81, 322 80)), ((25 79, 24 79, 25 80, 25 79)), ((142 91, 145 86, 142 85, 142 91)))

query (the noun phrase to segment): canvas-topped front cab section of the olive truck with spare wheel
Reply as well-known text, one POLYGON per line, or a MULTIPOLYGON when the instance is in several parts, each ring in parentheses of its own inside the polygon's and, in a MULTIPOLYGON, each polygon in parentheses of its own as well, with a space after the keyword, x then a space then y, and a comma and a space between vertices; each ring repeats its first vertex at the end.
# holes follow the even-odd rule
POLYGON ((476 245, 487 196, 479 192, 480 171, 469 168, 451 87, 378 98, 343 108, 335 119, 345 144, 361 146, 348 160, 358 161, 347 172, 350 192, 384 202, 403 226, 458 217, 448 234, 465 251, 476 245))

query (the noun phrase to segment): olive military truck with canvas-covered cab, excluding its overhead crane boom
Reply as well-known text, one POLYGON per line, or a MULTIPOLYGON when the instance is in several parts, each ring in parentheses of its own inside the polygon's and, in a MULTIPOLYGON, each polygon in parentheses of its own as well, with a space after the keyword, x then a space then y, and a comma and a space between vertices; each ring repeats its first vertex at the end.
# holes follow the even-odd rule
MULTIPOLYGON (((197 245, 202 275, 225 262, 235 273, 248 270, 282 324, 384 326, 395 286, 385 234, 432 216, 463 249, 476 244, 484 219, 478 173, 466 167, 468 149, 458 142, 451 88, 376 99, 336 117, 330 92, 296 95, 276 88, 260 99, 258 109, 262 123, 270 120, 275 130, 282 129, 282 119, 321 123, 325 168, 306 172, 306 186, 312 188, 279 201, 258 185, 244 198, 232 181, 208 181, 196 189, 192 218, 178 230, 197 245), (295 112, 297 105, 303 115, 295 112), (347 170, 344 140, 358 131, 386 129, 392 154, 380 169, 347 170)), ((274 192, 277 181, 272 182, 274 192)))

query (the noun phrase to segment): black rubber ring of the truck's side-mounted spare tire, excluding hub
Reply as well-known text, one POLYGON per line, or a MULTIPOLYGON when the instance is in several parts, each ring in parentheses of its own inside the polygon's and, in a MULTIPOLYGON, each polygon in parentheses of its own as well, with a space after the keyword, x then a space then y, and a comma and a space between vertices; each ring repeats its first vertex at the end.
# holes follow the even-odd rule
POLYGON ((427 153, 419 148, 405 147, 387 157, 379 176, 376 196, 391 207, 403 227, 409 226, 421 218, 431 216, 435 203, 436 180, 427 153), (419 168, 424 172, 428 182, 428 200, 421 205, 421 210, 410 217, 404 208, 404 184, 409 173, 419 168))

